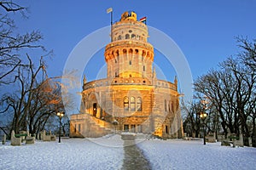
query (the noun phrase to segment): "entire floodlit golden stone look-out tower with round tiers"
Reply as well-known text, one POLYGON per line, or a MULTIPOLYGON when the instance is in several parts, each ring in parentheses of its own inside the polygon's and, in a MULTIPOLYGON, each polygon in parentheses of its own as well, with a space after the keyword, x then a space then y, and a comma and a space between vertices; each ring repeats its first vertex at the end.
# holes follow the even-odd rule
POLYGON ((111 35, 104 54, 108 77, 93 82, 84 77, 81 111, 71 116, 70 136, 125 131, 182 138, 177 79, 157 79, 148 27, 134 12, 125 12, 112 25, 111 35))

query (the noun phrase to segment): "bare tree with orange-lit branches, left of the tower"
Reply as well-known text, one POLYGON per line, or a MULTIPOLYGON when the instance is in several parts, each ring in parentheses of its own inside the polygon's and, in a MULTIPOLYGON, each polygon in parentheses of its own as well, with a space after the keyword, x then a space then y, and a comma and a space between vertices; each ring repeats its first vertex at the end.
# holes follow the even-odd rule
MULTIPOLYGON (((37 67, 29 60, 27 67, 19 67, 15 85, 19 87, 16 92, 5 94, 2 105, 3 113, 13 112, 12 129, 15 132, 29 130, 38 133, 45 127, 49 118, 55 119, 58 111, 65 111, 73 106, 70 94, 61 93, 64 87, 58 79, 61 77, 48 77, 45 71, 44 60, 40 59, 37 67), (66 99, 65 107, 63 98, 66 99)), ((66 77, 67 78, 67 77, 66 77)))

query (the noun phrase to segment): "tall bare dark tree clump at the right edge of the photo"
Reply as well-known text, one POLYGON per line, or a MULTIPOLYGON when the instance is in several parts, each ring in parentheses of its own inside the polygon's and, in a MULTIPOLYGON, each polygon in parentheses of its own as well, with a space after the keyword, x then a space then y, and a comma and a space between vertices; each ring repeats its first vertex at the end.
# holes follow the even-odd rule
MULTIPOLYGON (((220 63, 218 71, 209 71, 195 81, 195 91, 207 95, 218 111, 225 136, 240 133, 255 141, 255 64, 256 45, 238 39, 241 53, 220 63)), ((255 143, 255 142, 254 142, 255 143)))

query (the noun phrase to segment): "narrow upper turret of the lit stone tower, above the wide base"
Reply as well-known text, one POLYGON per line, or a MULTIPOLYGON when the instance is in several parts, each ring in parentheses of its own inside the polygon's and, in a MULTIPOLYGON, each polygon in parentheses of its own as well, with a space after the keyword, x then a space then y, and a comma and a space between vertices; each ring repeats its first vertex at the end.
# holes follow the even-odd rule
POLYGON ((105 48, 108 78, 146 77, 151 79, 154 48, 148 43, 148 27, 137 14, 125 12, 112 26, 113 42, 105 48))

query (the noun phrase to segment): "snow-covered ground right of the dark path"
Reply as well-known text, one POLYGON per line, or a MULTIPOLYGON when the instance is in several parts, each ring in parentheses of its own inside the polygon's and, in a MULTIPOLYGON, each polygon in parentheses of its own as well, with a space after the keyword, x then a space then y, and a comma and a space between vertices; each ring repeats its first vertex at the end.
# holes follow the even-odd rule
POLYGON ((137 145, 153 169, 256 169, 256 148, 180 139, 143 140, 137 145))

